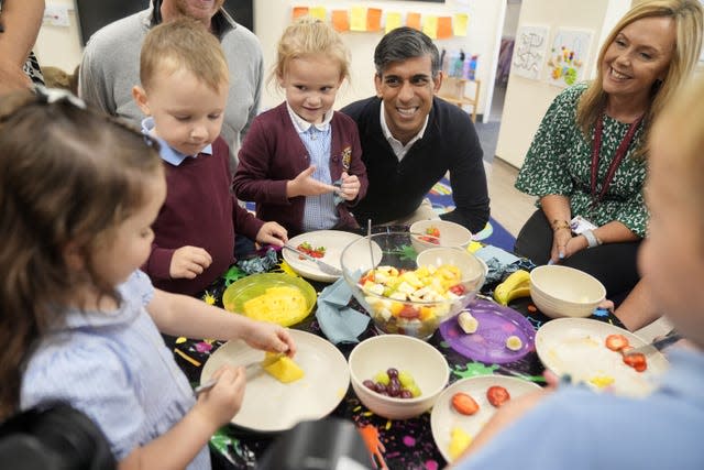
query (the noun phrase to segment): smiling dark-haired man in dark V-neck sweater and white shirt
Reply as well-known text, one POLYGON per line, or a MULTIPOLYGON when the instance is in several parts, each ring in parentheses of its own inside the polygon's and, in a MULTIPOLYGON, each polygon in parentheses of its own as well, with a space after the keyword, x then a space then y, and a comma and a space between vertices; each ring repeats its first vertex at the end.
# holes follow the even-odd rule
POLYGON ((438 48, 420 31, 398 28, 378 43, 374 64, 376 96, 342 109, 359 127, 369 177, 354 217, 362 226, 437 218, 426 195, 449 172, 455 208, 440 218, 482 230, 490 215, 482 147, 469 114, 435 96, 438 48))

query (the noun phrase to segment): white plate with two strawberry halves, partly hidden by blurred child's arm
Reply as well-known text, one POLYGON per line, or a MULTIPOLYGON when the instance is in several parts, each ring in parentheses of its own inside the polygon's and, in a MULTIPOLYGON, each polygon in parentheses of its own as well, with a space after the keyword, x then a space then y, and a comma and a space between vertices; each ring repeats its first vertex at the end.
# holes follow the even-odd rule
POLYGON ((459 380, 448 386, 438 397, 430 415, 432 438, 448 463, 452 462, 452 458, 450 457, 451 430, 459 427, 472 436, 472 438, 475 438, 496 412, 497 408, 488 403, 486 398, 486 390, 493 385, 501 385, 506 389, 512 398, 540 390, 540 386, 532 382, 505 375, 473 376, 459 380), (458 413, 452 406, 452 395, 458 392, 464 392, 471 395, 480 405, 480 411, 471 416, 458 413))

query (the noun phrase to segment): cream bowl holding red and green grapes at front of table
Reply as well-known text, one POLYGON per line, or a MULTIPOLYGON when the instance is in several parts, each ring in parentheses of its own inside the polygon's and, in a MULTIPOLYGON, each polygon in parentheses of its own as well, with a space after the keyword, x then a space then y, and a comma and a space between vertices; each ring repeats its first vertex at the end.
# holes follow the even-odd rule
POLYGON ((435 347, 403 335, 381 335, 354 347, 348 359, 350 379, 360 401, 388 419, 408 419, 432 407, 450 376, 448 361, 435 347), (364 386, 380 371, 407 371, 420 389, 420 396, 396 398, 364 386))

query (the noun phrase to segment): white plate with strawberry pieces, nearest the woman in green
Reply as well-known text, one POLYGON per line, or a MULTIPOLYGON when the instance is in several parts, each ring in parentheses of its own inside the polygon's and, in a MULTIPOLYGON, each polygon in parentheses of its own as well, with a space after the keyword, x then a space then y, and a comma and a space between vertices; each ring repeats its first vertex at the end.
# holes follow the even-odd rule
POLYGON ((590 382, 594 378, 613 378, 614 393, 644 396, 654 387, 657 378, 668 369, 660 352, 647 354, 648 369, 637 372, 623 361, 620 352, 606 348, 608 335, 623 335, 637 348, 646 342, 614 325, 590 318, 558 318, 544 324, 536 334, 536 351, 547 369, 558 375, 570 374, 572 381, 590 382))

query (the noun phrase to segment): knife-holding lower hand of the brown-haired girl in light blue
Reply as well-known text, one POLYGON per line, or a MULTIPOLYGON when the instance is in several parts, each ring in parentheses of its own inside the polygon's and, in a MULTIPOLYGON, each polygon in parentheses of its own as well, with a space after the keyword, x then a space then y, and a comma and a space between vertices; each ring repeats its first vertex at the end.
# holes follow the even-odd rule
POLYGON ((212 374, 212 379, 218 382, 212 389, 198 396, 194 411, 204 416, 208 423, 220 427, 230 423, 230 419, 240 411, 246 378, 244 368, 226 364, 212 374))

